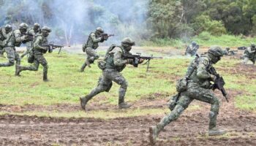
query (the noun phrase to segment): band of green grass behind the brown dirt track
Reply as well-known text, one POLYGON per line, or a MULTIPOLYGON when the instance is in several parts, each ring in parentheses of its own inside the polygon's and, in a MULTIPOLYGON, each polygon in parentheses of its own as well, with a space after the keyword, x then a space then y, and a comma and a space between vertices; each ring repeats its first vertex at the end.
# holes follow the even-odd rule
MULTIPOLYGON (((102 53, 104 54, 104 53, 102 53)), ((97 80, 102 74, 97 64, 91 68, 86 68, 86 72, 78 72, 83 64, 85 57, 83 55, 69 55, 62 53, 46 54, 49 70, 48 78, 50 82, 42 81, 42 66, 37 72, 21 72, 21 77, 15 77, 15 67, 0 68, 0 104, 12 104, 24 106, 26 104, 35 105, 54 105, 54 104, 79 104, 78 97, 85 96, 97 85, 97 80)), ((127 66, 122 72, 129 82, 126 94, 126 101, 135 103, 141 99, 168 99, 168 96, 176 93, 176 79, 183 77, 187 66, 192 58, 165 58, 152 60, 149 72, 146 72, 146 66, 140 65, 138 68, 127 66), (155 94, 160 96, 154 96, 155 94)), ((0 61, 6 61, 0 58, 0 61)), ((223 58, 217 64, 217 72, 222 74, 225 79, 225 88, 227 92, 241 91, 243 94, 234 95, 235 105, 238 109, 255 111, 256 106, 256 80, 248 80, 244 74, 233 74, 226 72, 225 69, 232 69, 239 63, 236 59, 223 58)), ((22 61, 26 63, 26 58, 22 61)), ((255 72, 252 72, 255 74, 255 72)), ((95 96, 91 102, 107 105, 116 105, 118 102, 118 88, 113 84, 109 93, 100 93, 95 96)), ((190 107, 189 110, 196 110, 200 107, 190 107)), ((124 112, 115 111, 92 111, 89 114, 84 112, 1 112, 1 114, 20 114, 20 115, 42 115, 53 117, 94 117, 94 118, 117 118, 139 115, 157 115, 166 111, 163 109, 135 109, 124 112), (108 115, 108 116, 107 116, 108 115)))

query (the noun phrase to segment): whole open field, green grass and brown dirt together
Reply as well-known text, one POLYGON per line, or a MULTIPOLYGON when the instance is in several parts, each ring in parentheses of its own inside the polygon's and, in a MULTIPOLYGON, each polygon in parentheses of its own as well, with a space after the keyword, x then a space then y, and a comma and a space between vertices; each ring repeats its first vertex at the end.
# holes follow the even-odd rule
MULTIPOLYGON (((80 109, 79 97, 89 93, 102 74, 97 64, 79 72, 82 54, 45 54, 50 82, 42 81, 42 66, 37 72, 21 72, 21 77, 14 76, 14 66, 0 68, 0 145, 150 145, 148 128, 170 111, 167 100, 193 58, 173 47, 135 47, 138 51, 164 59, 152 60, 149 72, 146 65, 124 69, 129 82, 125 99, 132 104, 127 110, 117 107, 116 83, 109 93, 89 101, 86 112, 80 109)), ((29 65, 26 58, 22 64, 29 65)), ((239 55, 225 56, 215 67, 225 79, 229 98, 227 103, 214 91, 222 101, 218 126, 227 134, 208 137, 210 104, 193 101, 165 127, 157 145, 256 145, 256 67, 240 64, 239 55)))

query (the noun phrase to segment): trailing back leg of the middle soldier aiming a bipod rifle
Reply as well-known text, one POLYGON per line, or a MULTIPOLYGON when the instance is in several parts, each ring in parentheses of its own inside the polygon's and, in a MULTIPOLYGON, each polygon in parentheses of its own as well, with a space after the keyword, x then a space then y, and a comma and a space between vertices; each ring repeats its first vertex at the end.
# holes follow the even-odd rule
POLYGON ((80 98, 80 104, 82 109, 85 110, 87 102, 91 100, 94 96, 96 96, 98 93, 108 91, 111 88, 111 85, 112 81, 105 77, 104 74, 102 74, 102 77, 99 77, 97 87, 94 88, 88 95, 80 98))

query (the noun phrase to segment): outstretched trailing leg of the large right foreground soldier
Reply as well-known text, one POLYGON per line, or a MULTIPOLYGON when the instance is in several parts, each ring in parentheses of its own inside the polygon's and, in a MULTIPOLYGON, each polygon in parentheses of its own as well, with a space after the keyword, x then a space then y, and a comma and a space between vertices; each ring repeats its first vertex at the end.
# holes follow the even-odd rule
POLYGON ((157 126, 151 126, 149 128, 149 139, 151 143, 156 142, 158 134, 162 129, 167 126, 167 124, 171 123, 173 120, 177 120, 179 115, 187 109, 189 104, 193 99, 190 99, 188 96, 180 96, 178 102, 174 109, 170 112, 170 114, 166 115, 162 120, 157 124, 157 126))

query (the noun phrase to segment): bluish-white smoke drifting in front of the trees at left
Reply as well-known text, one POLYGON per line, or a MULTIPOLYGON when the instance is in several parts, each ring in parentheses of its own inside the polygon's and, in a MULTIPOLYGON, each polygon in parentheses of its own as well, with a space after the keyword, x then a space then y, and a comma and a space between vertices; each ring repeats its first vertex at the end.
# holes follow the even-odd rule
POLYGON ((50 39, 64 44, 80 44, 100 26, 105 33, 116 34, 107 43, 119 43, 123 37, 146 39, 148 1, 137 0, 1 0, 0 24, 14 28, 25 22, 50 26, 50 39))

